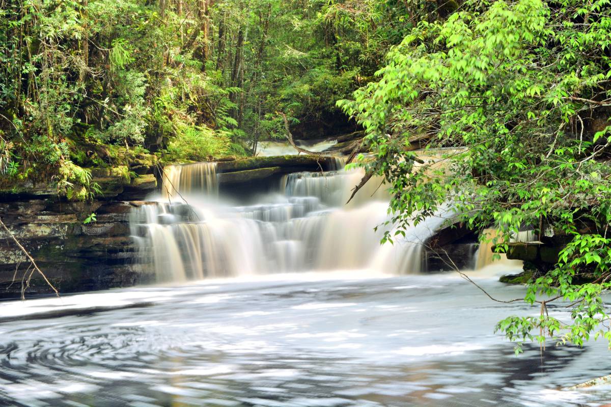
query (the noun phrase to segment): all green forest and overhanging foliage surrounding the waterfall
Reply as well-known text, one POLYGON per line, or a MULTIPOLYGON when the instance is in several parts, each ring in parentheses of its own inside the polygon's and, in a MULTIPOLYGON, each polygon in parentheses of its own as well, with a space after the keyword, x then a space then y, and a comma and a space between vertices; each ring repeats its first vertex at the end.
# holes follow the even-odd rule
POLYGON ((284 115, 299 138, 361 126, 360 185, 386 179, 400 228, 451 197, 499 253, 525 228, 563 236, 530 280, 541 315, 499 330, 611 343, 610 0, 0 0, 0 57, 4 187, 84 200, 87 168, 137 153, 249 156, 284 115), (548 315, 557 298, 573 323, 548 315))

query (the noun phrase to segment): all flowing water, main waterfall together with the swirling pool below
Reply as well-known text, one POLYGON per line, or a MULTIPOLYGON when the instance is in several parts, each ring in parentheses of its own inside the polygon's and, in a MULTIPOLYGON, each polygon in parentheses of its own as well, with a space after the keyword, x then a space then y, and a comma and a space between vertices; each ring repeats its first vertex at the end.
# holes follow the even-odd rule
MULTIPOLYGON (((0 303, 0 405, 611 400, 609 387, 564 389, 609 373, 604 344, 543 354, 527 345, 516 358, 494 324, 538 309, 494 303, 456 273, 419 273, 420 243, 451 210, 380 246, 373 228, 387 219, 383 187, 370 182, 343 204, 358 171, 290 174, 241 201, 219 192, 214 164, 166 175, 161 194, 131 214, 137 259, 159 285, 0 303)), ((524 295, 498 282, 519 264, 480 266, 469 275, 495 297, 524 295)), ((568 317, 562 304, 549 310, 568 317)))

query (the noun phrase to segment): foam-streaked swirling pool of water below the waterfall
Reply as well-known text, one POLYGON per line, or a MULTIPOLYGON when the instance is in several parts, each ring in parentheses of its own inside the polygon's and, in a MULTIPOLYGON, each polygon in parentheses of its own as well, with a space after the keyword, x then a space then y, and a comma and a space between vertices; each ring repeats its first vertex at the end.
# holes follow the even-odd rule
MULTIPOLYGON (((522 287, 473 278, 500 298, 522 287)), ((609 387, 606 344, 493 334, 510 314, 455 274, 293 273, 0 303, 0 403, 14 406, 577 406, 609 387)), ((562 307, 551 308, 562 317, 562 307)))

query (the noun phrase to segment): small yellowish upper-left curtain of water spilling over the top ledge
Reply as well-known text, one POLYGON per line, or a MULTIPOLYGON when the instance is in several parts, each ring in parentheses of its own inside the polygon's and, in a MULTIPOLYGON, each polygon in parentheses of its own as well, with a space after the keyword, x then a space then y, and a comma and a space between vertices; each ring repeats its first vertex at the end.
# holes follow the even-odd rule
POLYGON ((161 193, 166 198, 178 198, 179 194, 184 195, 191 192, 216 195, 218 190, 216 162, 168 165, 163 169, 161 193))

